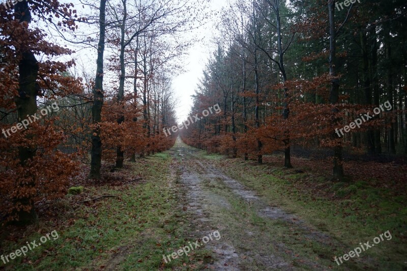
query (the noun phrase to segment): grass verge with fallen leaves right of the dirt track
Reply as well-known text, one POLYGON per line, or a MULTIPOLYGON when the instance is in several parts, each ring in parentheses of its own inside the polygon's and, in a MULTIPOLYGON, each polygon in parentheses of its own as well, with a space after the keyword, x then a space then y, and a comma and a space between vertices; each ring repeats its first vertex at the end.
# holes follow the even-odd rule
MULTIPOLYGON (((329 234, 337 243, 335 249, 330 251, 329 248, 318 244, 310 246, 316 253, 330 258, 331 265, 336 266, 332 260, 334 256, 341 256, 353 250, 360 242, 372 243, 374 237, 390 230, 391 240, 385 239, 374 249, 363 252, 361 258, 354 263, 347 261, 340 268, 376 268, 375 264, 394 270, 406 267, 407 196, 394 197, 390 190, 373 187, 363 181, 332 183, 329 178, 323 177, 315 178, 311 186, 322 184, 325 192, 332 196, 317 196, 309 187, 299 190, 298 186, 295 186, 302 177, 308 176, 307 172, 295 173, 267 165, 258 166, 252 161, 245 162, 241 159, 222 161, 219 158, 221 155, 218 155, 218 158, 214 157, 216 155, 211 156, 211 161, 220 161, 217 162, 218 165, 222 166, 228 175, 255 190, 269 204, 280 206, 289 213, 296 213, 318 230, 329 234)), ((295 244, 292 245, 300 254, 306 255, 308 246, 301 249, 295 244)))

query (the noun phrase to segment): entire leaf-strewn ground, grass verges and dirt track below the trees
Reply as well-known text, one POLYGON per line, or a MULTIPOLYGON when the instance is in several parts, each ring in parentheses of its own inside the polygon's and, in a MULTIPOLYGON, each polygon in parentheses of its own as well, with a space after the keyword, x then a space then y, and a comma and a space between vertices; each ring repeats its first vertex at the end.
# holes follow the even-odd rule
POLYGON ((1 229, 3 255, 52 230, 59 238, 0 269, 407 270, 405 184, 333 183, 304 165, 208 155, 180 139, 102 180, 89 182, 87 170, 72 183, 84 193, 39 205, 37 225, 1 229), (104 195, 114 197, 92 200, 104 195), (386 231, 391 239, 335 263, 386 231), (189 256, 164 260, 196 241, 189 256))

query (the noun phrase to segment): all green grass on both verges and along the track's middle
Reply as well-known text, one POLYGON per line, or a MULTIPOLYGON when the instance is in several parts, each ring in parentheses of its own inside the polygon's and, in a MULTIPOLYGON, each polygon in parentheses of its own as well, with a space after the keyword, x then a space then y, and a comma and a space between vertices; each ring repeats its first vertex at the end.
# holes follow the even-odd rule
MULTIPOLYGON (((225 198, 230 204, 213 209, 215 224, 227 221, 222 238, 247 253, 273 254, 301 269, 313 269, 312 262, 321 266, 337 267, 334 256, 341 256, 356 248, 360 242, 372 239, 390 230, 391 240, 361 254, 361 257, 342 264, 339 269, 401 270, 405 268, 406 196, 393 196, 390 189, 377 188, 380 180, 353 183, 332 183, 324 176, 315 177, 311 186, 321 186, 331 197, 318 196, 312 189, 298 184, 309 177, 309 170, 296 173, 282 168, 256 166, 240 159, 199 152, 199 157, 222 166, 242 184, 257 192, 268 204, 295 213, 319 231, 332 238, 332 245, 324 245, 312 238, 301 227, 285 221, 260 217, 254 206, 236 196, 226 185, 215 179, 205 179, 203 188, 225 198), (308 172, 307 172, 308 171, 308 172), (216 223, 218 221, 219 223, 216 223), (260 234, 249 236, 248 232, 260 234), (242 239, 242 236, 247 236, 242 239), (305 261, 305 262, 304 262, 305 261)), ((176 252, 188 242, 196 229, 181 209, 178 195, 177 171, 171 171, 173 160, 168 152, 156 154, 132 164, 134 175, 142 172, 144 183, 124 186, 85 187, 89 198, 114 195, 95 204, 80 204, 75 208, 72 196, 59 202, 59 222, 42 221, 27 228, 15 242, 2 243, 6 255, 56 230, 59 238, 49 240, 41 247, 6 264, 8 270, 68 270, 120 269, 120 270, 189 270, 203 268, 211 259, 211 252, 200 248, 189 257, 165 263, 163 255, 176 252)), ((131 172, 130 172, 131 173, 131 172)), ((309 185, 309 184, 308 184, 309 185)), ((78 196, 79 197, 79 196, 78 196)), ((244 255, 245 253, 243 253, 244 255)), ((248 257, 250 258, 250 257, 248 257)), ((241 259, 242 268, 264 270, 261 263, 241 259)), ((0 268, 3 267, 0 262, 0 268)))

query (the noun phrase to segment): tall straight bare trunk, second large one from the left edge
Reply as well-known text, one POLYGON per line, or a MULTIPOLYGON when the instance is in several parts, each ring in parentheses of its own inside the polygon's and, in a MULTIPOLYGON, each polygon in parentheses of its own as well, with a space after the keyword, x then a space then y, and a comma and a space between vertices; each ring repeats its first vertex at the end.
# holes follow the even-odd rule
POLYGON ((105 50, 105 10, 106 0, 100 1, 99 10, 99 44, 98 59, 96 68, 95 86, 93 88, 93 106, 92 106, 92 123, 95 126, 92 131, 92 149, 91 149, 91 171, 89 178, 99 179, 100 168, 102 167, 102 140, 100 139, 99 123, 102 120, 103 107, 103 54, 105 50))

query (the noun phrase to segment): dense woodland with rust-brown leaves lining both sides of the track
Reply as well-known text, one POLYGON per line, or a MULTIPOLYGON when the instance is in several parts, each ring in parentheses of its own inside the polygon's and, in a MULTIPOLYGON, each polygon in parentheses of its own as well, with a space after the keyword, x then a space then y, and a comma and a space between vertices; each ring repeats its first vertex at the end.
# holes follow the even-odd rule
MULTIPOLYGON (((0 7, 0 129, 54 102, 60 107, 0 138, 2 221, 34 221, 36 204, 63 197, 83 166, 99 179, 103 170, 174 144, 178 134, 163 133, 177 125, 171 79, 199 42, 181 33, 209 18, 205 1, 196 2, 74 7, 28 0, 0 7), (75 69, 75 49, 67 46, 97 51, 93 71, 75 69)), ((292 155, 315 154, 331 163, 334 179, 346 177, 343 165, 355 157, 405 163, 406 8, 403 0, 361 0, 340 11, 328 0, 231 1, 191 109, 200 114, 219 104, 222 112, 181 137, 260 164, 283 153, 278 159, 287 168, 296 167, 292 155), (386 101, 391 111, 336 136, 335 129, 386 101)))

